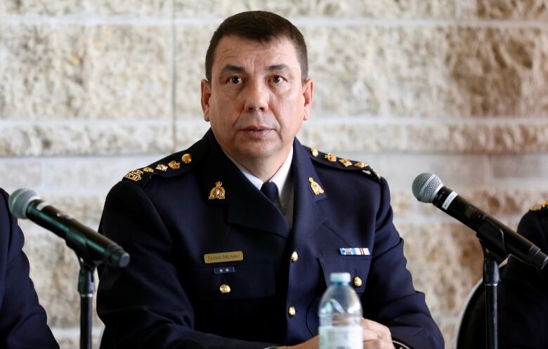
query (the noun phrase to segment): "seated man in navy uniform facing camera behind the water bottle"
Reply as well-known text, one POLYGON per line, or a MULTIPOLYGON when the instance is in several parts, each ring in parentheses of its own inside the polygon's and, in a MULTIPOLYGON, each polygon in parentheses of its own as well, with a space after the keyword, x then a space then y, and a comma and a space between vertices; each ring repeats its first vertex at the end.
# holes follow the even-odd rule
POLYGON ((313 100, 299 30, 273 13, 233 15, 206 77, 204 138, 107 196, 100 230, 131 263, 101 270, 102 348, 318 348, 331 272, 353 277, 364 348, 443 348, 386 181, 295 138, 313 100))

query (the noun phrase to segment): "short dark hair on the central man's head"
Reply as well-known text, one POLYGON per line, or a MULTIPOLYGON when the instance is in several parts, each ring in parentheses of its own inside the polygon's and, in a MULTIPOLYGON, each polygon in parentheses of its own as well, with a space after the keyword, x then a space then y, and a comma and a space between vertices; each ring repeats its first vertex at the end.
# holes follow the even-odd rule
POLYGON ((226 18, 209 41, 207 48, 205 70, 206 79, 211 81, 211 68, 215 59, 215 50, 223 37, 235 35, 244 39, 268 43, 272 39, 287 38, 295 46, 297 58, 301 65, 301 79, 305 81, 308 77, 308 53, 304 37, 299 29, 292 22, 280 15, 267 11, 247 11, 237 13, 226 18))

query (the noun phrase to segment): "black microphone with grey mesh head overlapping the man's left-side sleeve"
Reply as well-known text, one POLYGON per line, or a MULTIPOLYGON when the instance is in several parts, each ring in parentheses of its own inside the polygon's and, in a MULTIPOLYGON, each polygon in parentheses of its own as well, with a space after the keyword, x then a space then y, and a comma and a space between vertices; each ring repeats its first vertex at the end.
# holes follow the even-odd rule
POLYGON ((107 265, 124 268, 129 264, 129 254, 107 237, 60 213, 40 199, 34 190, 18 189, 8 199, 13 215, 30 219, 43 228, 65 239, 67 246, 88 261, 103 261, 107 265))

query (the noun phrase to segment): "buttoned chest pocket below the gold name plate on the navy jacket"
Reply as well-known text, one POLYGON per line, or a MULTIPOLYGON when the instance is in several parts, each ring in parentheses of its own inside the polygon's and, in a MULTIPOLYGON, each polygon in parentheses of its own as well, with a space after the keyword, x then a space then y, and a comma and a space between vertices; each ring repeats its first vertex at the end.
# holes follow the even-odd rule
POLYGON ((201 301, 221 301, 274 296, 273 261, 216 263, 192 269, 195 297, 201 301), (233 267, 234 272, 215 274, 216 268, 233 267), (223 287, 224 293, 221 291, 223 287), (230 291, 227 292, 227 287, 230 291))

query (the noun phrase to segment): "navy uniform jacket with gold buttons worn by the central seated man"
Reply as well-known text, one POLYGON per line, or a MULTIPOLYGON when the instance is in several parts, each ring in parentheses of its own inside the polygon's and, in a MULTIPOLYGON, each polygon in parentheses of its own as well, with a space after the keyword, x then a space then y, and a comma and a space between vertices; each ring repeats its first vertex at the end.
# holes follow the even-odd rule
POLYGON ((131 255, 125 269, 100 270, 101 348, 300 343, 318 334, 318 305, 331 272, 363 280, 355 291, 364 317, 389 326, 394 339, 443 348, 405 267, 385 180, 367 166, 315 157, 297 140, 292 173, 292 228, 211 130, 188 150, 128 173, 107 196, 100 225, 131 255), (185 164, 183 154, 192 161, 185 164), (315 194, 311 179, 322 193, 315 194), (215 187, 224 199, 210 199, 215 187), (370 255, 341 256, 341 247, 364 247, 370 255), (230 251, 241 251, 243 260, 204 263, 205 254, 230 251), (229 293, 219 291, 223 284, 229 293))

